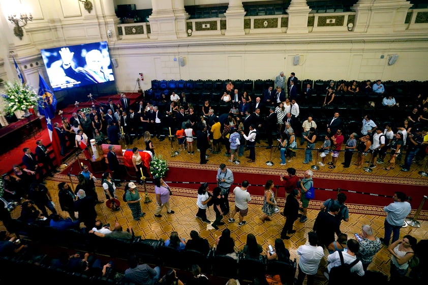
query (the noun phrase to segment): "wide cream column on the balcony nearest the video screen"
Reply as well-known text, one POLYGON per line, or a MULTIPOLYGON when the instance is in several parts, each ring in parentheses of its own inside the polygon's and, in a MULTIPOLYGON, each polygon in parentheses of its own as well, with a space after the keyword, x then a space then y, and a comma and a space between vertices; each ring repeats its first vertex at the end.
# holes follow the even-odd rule
POLYGON ((185 11, 184 0, 151 0, 152 13, 150 38, 174 40, 187 37, 186 20, 189 14, 185 11))

